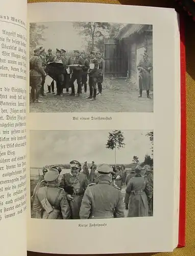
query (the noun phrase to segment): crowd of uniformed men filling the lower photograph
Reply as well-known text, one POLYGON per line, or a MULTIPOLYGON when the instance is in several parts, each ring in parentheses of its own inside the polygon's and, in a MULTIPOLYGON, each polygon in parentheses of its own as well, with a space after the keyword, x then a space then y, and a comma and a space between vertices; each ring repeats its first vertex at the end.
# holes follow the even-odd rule
POLYGON ((60 166, 43 168, 31 197, 32 218, 107 219, 153 216, 153 170, 70 162, 70 173, 60 166), (82 170, 83 169, 83 170, 82 170), (125 200, 121 188, 126 186, 125 200))

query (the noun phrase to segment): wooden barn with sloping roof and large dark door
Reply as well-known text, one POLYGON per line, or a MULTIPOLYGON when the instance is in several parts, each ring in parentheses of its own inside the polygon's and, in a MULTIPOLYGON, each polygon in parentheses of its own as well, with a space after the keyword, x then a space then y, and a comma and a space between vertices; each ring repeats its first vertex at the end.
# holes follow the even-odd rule
POLYGON ((127 24, 113 39, 105 38, 105 75, 127 77, 130 82, 138 85, 137 65, 144 50, 152 62, 152 25, 127 24))

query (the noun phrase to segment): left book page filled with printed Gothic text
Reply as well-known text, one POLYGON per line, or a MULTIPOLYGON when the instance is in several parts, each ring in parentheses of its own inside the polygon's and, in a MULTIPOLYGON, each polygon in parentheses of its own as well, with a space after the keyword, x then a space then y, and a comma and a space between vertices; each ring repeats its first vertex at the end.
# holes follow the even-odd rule
POLYGON ((26 255, 27 2, 0 3, 1 255, 26 255))

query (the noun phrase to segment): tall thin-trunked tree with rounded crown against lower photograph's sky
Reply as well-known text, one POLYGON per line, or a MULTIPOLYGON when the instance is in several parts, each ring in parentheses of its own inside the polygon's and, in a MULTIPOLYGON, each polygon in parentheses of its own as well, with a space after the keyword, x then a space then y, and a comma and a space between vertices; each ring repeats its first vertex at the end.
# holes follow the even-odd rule
POLYGON ((116 165, 116 149, 120 150, 121 147, 125 147, 124 135, 120 130, 114 130, 109 132, 108 141, 106 143, 106 148, 109 150, 114 150, 114 163, 116 165))

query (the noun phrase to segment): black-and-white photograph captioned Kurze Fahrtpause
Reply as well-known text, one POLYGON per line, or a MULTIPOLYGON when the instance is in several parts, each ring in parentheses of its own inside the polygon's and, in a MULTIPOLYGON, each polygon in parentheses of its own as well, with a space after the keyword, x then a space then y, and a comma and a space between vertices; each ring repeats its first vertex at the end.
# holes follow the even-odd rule
POLYGON ((30 131, 31 218, 153 216, 153 131, 30 131))

